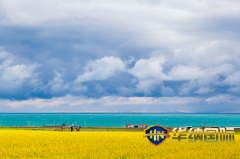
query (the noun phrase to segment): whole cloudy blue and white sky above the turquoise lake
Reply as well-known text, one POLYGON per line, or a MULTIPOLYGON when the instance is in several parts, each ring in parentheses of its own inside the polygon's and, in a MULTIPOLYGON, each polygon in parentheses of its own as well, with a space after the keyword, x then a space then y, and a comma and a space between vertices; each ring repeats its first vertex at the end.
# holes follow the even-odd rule
POLYGON ((1 0, 0 112, 240 112, 238 0, 1 0))

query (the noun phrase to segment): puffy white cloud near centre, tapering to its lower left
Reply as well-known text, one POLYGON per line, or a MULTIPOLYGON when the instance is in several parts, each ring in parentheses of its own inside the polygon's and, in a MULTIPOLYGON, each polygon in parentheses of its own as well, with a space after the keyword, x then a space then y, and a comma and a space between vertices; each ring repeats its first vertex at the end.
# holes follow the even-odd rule
POLYGON ((74 83, 86 81, 102 81, 125 71, 124 62, 119 57, 105 56, 101 59, 88 62, 84 67, 85 72, 79 75, 74 83))

